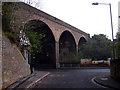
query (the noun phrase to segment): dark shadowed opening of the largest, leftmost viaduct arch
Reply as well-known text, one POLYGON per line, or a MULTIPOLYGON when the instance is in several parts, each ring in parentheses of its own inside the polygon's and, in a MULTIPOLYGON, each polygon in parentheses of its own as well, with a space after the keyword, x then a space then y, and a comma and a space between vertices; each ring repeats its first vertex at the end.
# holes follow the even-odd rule
POLYGON ((42 50, 40 53, 32 55, 32 64, 34 67, 46 68, 55 67, 55 37, 49 26, 41 20, 30 20, 26 24, 35 26, 34 30, 45 37, 41 40, 42 50))

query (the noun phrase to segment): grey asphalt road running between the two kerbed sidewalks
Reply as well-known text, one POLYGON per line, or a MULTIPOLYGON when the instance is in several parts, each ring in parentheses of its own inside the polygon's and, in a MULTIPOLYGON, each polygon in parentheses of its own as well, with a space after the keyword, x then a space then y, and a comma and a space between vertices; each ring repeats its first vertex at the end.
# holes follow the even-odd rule
MULTIPOLYGON (((103 88, 92 79, 109 75, 109 69, 53 69, 51 74, 34 88, 103 88)), ((37 71, 39 72, 39 70, 37 71)))

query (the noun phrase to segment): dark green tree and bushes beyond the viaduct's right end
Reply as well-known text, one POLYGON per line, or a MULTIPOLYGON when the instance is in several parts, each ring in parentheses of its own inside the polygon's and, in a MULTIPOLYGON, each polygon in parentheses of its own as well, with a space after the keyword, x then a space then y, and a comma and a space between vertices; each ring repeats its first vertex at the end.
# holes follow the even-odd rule
MULTIPOLYGON (((78 54, 71 53, 62 58, 61 63, 80 63, 80 59, 100 60, 111 57, 112 41, 104 34, 88 38, 87 43, 79 49, 78 54)), ((60 57, 61 58, 61 57, 60 57)))

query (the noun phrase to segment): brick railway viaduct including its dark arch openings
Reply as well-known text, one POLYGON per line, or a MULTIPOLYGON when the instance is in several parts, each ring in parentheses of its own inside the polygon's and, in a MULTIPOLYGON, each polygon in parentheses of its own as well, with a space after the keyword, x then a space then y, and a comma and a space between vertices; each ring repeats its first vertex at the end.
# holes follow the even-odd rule
POLYGON ((41 10, 22 2, 18 3, 18 7, 16 14, 20 19, 16 22, 36 25, 35 31, 44 33, 47 38, 43 45, 42 54, 35 56, 36 59, 39 59, 36 63, 49 64, 53 62, 58 68, 62 58, 73 52, 78 52, 81 43, 88 39, 87 33, 41 10))

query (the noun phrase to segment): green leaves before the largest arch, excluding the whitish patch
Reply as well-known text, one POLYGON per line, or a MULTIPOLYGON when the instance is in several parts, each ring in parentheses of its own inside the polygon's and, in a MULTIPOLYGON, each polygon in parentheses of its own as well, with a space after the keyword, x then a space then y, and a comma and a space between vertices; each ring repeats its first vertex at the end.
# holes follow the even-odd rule
POLYGON ((35 53, 40 53, 42 49, 41 39, 45 37, 45 35, 39 34, 34 31, 35 26, 27 26, 25 25, 24 31, 26 36, 30 41, 30 53, 33 55, 35 53))

